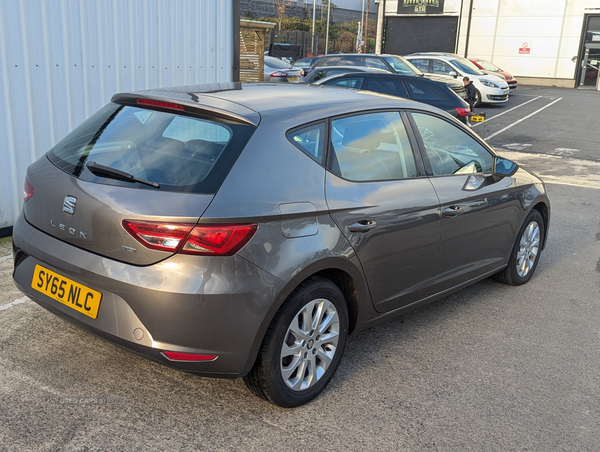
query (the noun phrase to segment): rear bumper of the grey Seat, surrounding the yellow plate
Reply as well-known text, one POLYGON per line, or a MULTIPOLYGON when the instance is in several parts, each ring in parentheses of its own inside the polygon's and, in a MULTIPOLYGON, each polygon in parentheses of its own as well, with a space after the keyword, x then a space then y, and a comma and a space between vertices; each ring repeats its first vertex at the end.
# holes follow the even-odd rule
POLYGON ((93 334, 162 364, 212 377, 247 373, 259 329, 284 283, 239 256, 175 255, 136 267, 75 248, 32 227, 13 230, 19 289, 93 334), (102 293, 96 319, 31 288, 36 264, 102 293), (169 361, 161 352, 217 355, 210 362, 169 361))

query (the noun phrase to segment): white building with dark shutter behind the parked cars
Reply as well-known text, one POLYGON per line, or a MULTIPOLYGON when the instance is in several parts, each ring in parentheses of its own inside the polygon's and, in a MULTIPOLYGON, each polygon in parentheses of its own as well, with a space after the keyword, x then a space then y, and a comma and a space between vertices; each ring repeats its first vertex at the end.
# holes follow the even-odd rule
POLYGON ((599 87, 600 0, 381 0, 380 8, 383 52, 452 52, 492 61, 520 83, 599 87))

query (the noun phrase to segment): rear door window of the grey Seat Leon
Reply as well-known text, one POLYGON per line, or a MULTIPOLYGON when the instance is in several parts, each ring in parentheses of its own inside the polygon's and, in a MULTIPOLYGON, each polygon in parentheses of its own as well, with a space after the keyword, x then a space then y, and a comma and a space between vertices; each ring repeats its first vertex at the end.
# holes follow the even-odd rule
POLYGON ((351 181, 404 179, 418 175, 398 112, 333 120, 329 168, 351 181))

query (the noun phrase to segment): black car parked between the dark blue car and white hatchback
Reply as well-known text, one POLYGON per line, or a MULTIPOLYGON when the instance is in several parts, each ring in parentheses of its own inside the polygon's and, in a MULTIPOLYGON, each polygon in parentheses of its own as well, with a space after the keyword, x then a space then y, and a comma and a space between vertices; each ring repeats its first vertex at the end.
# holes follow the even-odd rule
POLYGON ((436 75, 424 74, 406 58, 398 55, 375 55, 374 53, 340 53, 337 55, 325 55, 313 63, 309 71, 305 70, 306 77, 312 71, 330 66, 358 66, 383 69, 395 74, 426 77, 430 80, 445 82, 457 95, 466 99, 465 87, 459 80, 448 80, 436 75))

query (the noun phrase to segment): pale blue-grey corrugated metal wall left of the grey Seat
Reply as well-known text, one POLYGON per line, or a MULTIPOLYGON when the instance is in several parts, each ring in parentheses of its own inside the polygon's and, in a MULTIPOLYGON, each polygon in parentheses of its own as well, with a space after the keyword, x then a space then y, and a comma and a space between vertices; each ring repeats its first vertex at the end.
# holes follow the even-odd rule
POLYGON ((232 81, 225 0, 0 0, 0 228, 27 166, 116 92, 232 81))

